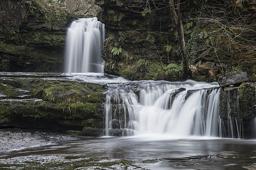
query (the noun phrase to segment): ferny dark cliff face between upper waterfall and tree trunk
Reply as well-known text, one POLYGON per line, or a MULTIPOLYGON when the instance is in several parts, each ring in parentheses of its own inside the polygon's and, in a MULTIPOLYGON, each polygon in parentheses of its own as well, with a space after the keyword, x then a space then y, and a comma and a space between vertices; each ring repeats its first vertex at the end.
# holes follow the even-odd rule
POLYGON ((98 18, 108 36, 102 56, 105 72, 129 79, 168 79, 159 63, 168 64, 179 57, 166 52, 165 46, 175 41, 167 4, 158 5, 162 10, 152 8, 151 14, 144 11, 146 2, 101 1, 99 5, 98 18))

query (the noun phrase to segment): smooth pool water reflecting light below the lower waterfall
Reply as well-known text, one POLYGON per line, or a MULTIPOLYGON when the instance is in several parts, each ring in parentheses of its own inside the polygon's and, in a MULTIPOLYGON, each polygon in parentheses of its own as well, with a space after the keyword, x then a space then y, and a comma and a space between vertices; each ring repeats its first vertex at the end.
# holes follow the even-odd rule
POLYGON ((131 159, 149 169, 243 169, 256 166, 256 141, 243 139, 122 137, 59 141, 3 154, 2 158, 28 155, 65 155, 76 158, 131 159))

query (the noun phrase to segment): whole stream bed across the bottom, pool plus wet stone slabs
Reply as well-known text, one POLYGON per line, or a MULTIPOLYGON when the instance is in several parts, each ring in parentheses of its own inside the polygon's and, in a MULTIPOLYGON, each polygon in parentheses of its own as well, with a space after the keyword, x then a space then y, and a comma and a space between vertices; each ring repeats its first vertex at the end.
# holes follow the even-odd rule
POLYGON ((256 140, 166 135, 74 138, 1 131, 3 139, 9 142, 1 143, 0 169, 256 168, 256 140))

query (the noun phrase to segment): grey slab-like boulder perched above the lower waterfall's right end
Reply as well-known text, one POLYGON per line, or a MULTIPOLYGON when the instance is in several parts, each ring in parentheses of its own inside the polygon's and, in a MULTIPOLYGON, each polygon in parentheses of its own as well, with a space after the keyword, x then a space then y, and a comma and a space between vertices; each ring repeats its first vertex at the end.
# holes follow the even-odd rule
POLYGON ((238 85, 246 81, 248 81, 247 73, 245 71, 240 71, 229 73, 227 76, 222 76, 218 79, 218 84, 220 87, 226 87, 232 84, 238 85))

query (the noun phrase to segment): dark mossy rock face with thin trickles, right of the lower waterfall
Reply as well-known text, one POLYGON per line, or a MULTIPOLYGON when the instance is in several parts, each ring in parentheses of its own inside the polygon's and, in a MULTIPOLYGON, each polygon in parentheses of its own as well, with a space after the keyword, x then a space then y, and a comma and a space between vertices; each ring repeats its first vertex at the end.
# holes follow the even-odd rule
POLYGON ((254 136, 254 122, 256 117, 256 85, 243 82, 239 87, 225 87, 220 93, 219 115, 225 128, 230 128, 230 122, 237 126, 243 124, 243 138, 254 136))

